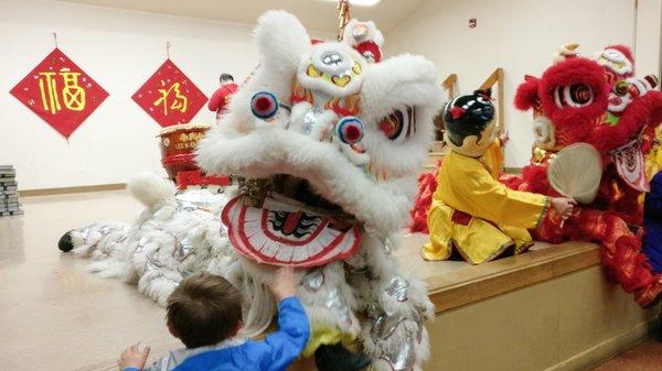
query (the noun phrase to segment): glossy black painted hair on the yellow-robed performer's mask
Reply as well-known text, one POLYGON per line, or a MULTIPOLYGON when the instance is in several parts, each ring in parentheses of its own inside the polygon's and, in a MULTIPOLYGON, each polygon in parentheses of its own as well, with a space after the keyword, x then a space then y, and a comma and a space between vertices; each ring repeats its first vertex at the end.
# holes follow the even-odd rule
POLYGON ((461 146, 465 138, 480 133, 488 122, 494 118, 492 91, 476 90, 473 94, 456 97, 444 108, 444 126, 446 135, 457 146, 461 146))

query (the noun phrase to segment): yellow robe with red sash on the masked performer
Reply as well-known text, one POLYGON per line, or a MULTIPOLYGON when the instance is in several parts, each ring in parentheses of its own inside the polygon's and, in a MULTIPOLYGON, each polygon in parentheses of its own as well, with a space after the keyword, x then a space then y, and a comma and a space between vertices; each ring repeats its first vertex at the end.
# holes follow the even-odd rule
POLYGON ((531 245, 526 229, 545 216, 547 197, 509 189, 485 160, 453 151, 444 159, 428 216, 426 260, 446 260, 456 248, 469 263, 480 264, 508 248, 521 253, 531 245))

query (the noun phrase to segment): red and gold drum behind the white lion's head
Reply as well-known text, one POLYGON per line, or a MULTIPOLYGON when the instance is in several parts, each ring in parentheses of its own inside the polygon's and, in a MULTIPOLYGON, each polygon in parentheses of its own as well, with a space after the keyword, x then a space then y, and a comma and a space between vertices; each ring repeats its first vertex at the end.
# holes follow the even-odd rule
POLYGON ((210 128, 206 123, 181 123, 161 130, 161 164, 171 179, 174 181, 179 172, 197 170, 195 149, 210 128))

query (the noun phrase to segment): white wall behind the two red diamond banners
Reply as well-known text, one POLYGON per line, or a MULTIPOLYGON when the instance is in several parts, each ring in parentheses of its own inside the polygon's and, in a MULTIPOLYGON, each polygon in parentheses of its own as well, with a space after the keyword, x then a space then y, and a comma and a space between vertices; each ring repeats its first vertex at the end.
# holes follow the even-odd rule
MULTIPOLYGON (((124 183, 140 171, 164 172, 160 127, 131 95, 171 58, 207 97, 218 74, 238 81, 255 67, 252 25, 33 0, 0 0, 0 164, 13 164, 20 189, 124 183), (62 138, 9 90, 60 47, 110 96, 62 138)), ((201 110, 193 122, 214 122, 201 110)))

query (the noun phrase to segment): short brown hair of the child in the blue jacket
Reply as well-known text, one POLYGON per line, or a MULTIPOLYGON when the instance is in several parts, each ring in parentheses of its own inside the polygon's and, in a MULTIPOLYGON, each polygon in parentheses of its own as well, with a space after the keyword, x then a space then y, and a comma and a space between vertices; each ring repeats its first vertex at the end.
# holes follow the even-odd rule
POLYGON ((225 279, 192 275, 168 297, 168 326, 186 348, 215 345, 239 326, 242 301, 239 291, 225 279))

